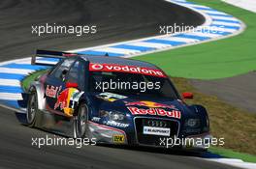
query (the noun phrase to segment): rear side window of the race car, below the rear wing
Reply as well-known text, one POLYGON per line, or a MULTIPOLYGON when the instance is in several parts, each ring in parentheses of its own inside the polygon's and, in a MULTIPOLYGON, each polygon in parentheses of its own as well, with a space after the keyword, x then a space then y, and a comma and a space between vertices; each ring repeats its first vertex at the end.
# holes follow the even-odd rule
POLYGON ((70 67, 75 61, 76 61, 76 58, 65 59, 58 68, 56 68, 51 72, 51 75, 53 75, 56 78, 62 79, 63 71, 67 70, 68 72, 68 70, 70 69, 70 67))

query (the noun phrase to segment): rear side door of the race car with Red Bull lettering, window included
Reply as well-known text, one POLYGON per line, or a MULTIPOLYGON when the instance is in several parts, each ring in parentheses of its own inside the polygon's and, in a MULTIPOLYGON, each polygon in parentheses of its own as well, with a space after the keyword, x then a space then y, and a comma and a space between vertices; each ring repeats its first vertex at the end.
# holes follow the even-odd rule
POLYGON ((48 111, 63 115, 62 106, 65 102, 59 95, 66 89, 66 76, 76 59, 76 57, 64 59, 60 65, 48 74, 44 85, 48 111))

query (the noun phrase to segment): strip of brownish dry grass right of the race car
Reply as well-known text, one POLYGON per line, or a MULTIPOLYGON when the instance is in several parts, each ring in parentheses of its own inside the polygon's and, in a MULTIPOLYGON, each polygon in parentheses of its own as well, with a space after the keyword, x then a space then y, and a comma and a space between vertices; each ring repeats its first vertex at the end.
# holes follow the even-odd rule
MULTIPOLYGON (((188 104, 202 104, 208 110, 210 133, 216 138, 224 138, 225 149, 256 155, 256 115, 225 103, 217 97, 197 91, 185 78, 172 78, 179 93, 192 92, 194 99, 188 104)), ((256 157, 255 157, 256 158, 256 157)))

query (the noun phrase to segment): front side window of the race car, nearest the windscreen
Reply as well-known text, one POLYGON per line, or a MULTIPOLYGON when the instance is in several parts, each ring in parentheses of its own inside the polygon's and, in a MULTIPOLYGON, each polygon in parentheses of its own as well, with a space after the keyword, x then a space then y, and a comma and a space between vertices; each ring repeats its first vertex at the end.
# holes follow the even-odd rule
POLYGON ((85 79, 85 66, 81 61, 77 61, 72 68, 69 70, 66 81, 72 83, 78 83, 79 89, 84 87, 85 79))

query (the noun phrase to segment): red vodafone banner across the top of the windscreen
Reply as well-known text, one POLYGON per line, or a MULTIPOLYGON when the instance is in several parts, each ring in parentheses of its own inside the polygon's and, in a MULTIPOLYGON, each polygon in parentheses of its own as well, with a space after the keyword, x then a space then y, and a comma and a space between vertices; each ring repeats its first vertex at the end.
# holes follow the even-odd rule
POLYGON ((167 77, 162 70, 154 70, 149 68, 135 67, 135 66, 123 66, 114 64, 90 64, 90 71, 118 71, 128 73, 139 73, 144 75, 153 75, 158 77, 167 77))

